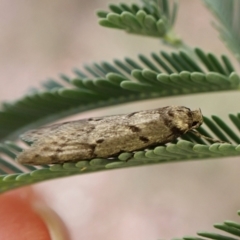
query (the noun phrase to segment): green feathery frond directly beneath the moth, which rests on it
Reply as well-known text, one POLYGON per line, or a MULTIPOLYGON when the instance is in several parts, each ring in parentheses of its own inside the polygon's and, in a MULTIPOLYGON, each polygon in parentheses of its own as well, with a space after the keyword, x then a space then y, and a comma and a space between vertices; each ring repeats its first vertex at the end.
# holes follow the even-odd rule
POLYGON ((202 160, 228 156, 240 156, 240 138, 235 133, 240 128, 240 114, 229 115, 233 127, 229 127, 217 116, 212 119, 204 117, 204 123, 209 127, 199 128, 199 132, 210 138, 218 138, 226 143, 207 145, 205 140, 197 138, 191 133, 182 136, 176 143, 161 145, 152 149, 124 152, 110 159, 96 158, 79 160, 77 163, 64 163, 34 167, 20 165, 15 162, 16 155, 23 149, 7 141, 0 145, 0 192, 27 184, 48 179, 66 177, 75 174, 105 171, 116 168, 126 168, 156 163, 170 163, 176 161, 202 160), (186 141, 187 140, 187 141, 186 141), (228 143, 227 143, 228 142, 228 143), (232 144, 230 144, 232 142, 232 144))

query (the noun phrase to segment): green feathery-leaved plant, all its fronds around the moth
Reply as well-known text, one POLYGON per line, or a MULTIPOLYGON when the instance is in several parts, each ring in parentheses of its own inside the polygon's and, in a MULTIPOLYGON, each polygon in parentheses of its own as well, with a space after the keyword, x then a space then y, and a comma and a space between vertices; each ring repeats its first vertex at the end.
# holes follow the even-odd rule
MULTIPOLYGON (((220 36, 239 59, 238 29, 237 24, 233 24, 236 1, 204 2, 217 17, 218 25, 215 25, 220 36)), ((204 117, 205 124, 199 129, 199 132, 206 136, 212 137, 215 134, 220 140, 232 144, 209 144, 189 133, 175 143, 137 151, 129 161, 125 161, 129 153, 122 153, 111 160, 92 159, 42 166, 40 169, 34 166, 23 168, 14 162, 16 154, 22 151, 21 147, 13 142, 20 133, 64 116, 131 101, 239 90, 239 75, 227 56, 218 58, 215 54, 206 53, 199 48, 191 50, 176 37, 173 27, 177 1, 171 6, 166 0, 145 0, 142 6, 110 4, 109 8, 110 11, 97 13, 100 25, 125 30, 130 34, 155 37, 176 50, 171 53, 154 52, 150 58, 140 54, 138 60, 125 58, 113 63, 103 61, 85 66, 84 71, 75 69, 74 79, 60 76, 69 87, 63 87, 59 81, 51 80, 44 83, 45 91, 29 93, 14 103, 4 103, 0 112, 1 192, 74 174, 240 155, 240 138, 236 133, 240 130, 239 113, 229 114, 233 126, 213 115, 211 118, 204 117)), ((227 221, 216 227, 239 236, 240 227, 237 223, 227 221)), ((199 235, 224 239, 223 236, 214 234, 199 235)))

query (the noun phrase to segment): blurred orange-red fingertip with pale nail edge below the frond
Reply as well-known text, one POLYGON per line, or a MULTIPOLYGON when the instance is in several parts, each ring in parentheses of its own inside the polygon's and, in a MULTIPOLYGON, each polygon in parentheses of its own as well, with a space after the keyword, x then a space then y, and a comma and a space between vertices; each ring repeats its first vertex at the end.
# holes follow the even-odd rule
POLYGON ((69 239, 59 216, 30 187, 2 194, 0 216, 0 239, 69 239))

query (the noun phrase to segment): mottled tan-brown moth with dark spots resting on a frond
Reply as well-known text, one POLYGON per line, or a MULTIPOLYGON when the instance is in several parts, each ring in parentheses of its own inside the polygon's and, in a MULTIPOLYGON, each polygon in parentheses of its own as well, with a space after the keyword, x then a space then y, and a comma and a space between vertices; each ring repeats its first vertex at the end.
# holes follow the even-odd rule
POLYGON ((110 158, 169 143, 189 131, 202 137, 195 131, 202 123, 200 109, 167 106, 54 124, 24 133, 21 138, 32 145, 17 156, 17 161, 42 165, 110 158))

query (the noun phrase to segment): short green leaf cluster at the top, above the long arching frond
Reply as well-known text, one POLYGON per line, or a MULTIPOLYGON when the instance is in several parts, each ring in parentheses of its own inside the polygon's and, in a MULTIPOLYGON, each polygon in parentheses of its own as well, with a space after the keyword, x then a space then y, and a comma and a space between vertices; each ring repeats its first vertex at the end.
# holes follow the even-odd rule
POLYGON ((100 17, 99 24, 132 34, 160 37, 173 46, 180 45, 181 40, 173 32, 178 9, 177 1, 174 1, 172 8, 166 0, 142 2, 141 7, 137 4, 109 4, 111 12, 102 10, 97 12, 100 17))

